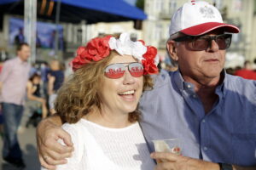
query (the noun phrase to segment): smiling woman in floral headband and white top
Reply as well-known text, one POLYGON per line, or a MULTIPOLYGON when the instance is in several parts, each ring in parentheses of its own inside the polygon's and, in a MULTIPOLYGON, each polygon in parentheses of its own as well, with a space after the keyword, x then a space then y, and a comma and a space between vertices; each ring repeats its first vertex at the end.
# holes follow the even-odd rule
POLYGON ((154 168, 137 105, 143 90, 153 87, 148 75, 158 72, 156 53, 125 33, 119 39, 96 37, 78 49, 73 77, 55 101, 74 145, 73 156, 57 169, 154 168))

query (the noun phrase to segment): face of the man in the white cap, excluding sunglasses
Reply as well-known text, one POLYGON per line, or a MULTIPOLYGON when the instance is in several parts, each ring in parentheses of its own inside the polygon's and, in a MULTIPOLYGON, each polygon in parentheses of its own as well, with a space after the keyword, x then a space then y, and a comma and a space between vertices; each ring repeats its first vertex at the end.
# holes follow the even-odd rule
MULTIPOLYGON (((212 31, 208 36, 216 36, 223 32, 212 31)), ((218 44, 213 40, 211 47, 195 51, 191 50, 189 41, 179 42, 177 45, 177 62, 183 78, 192 78, 195 81, 207 79, 218 79, 224 68, 225 50, 219 49, 218 44)))

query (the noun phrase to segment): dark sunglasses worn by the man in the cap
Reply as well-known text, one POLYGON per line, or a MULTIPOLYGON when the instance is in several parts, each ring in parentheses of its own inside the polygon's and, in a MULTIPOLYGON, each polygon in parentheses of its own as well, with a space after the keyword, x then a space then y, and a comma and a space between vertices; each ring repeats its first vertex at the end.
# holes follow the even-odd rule
POLYGON ((232 34, 221 34, 218 36, 185 36, 185 37, 177 37, 173 39, 176 42, 189 41, 191 43, 192 50, 202 51, 207 48, 211 48, 212 40, 214 40, 218 44, 219 49, 226 49, 230 47, 232 39, 232 34))

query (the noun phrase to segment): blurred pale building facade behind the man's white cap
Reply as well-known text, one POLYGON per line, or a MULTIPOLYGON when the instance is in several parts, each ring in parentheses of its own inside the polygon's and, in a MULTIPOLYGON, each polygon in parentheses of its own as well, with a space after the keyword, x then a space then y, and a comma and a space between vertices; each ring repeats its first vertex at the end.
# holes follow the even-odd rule
MULTIPOLYGON (((256 0, 206 0, 215 5, 223 16, 224 22, 238 26, 239 34, 233 35, 232 44, 227 56, 256 59, 256 0)), ((159 53, 166 56, 166 40, 169 37, 168 28, 171 16, 177 8, 188 0, 145 0, 145 13, 148 20, 143 21, 143 38, 159 48, 159 53)), ((231 61, 230 61, 231 62, 231 61)), ((233 62, 233 61, 232 61, 233 62)), ((236 62, 242 65, 243 62, 236 62)))

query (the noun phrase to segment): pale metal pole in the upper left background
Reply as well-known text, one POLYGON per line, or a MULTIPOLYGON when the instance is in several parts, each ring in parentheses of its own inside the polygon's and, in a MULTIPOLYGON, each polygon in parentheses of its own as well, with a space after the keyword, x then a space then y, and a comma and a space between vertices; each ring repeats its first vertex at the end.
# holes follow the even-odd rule
POLYGON ((36 37, 37 37, 37 0, 25 0, 24 2, 24 36, 31 48, 30 63, 36 61, 36 37))

